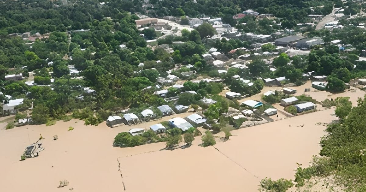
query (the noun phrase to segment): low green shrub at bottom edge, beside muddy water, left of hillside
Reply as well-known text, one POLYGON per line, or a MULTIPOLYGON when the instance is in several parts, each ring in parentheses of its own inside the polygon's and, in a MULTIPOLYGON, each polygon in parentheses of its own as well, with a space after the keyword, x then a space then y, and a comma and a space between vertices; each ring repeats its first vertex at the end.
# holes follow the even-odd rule
POLYGON ((280 178, 277 181, 272 181, 270 178, 264 178, 259 185, 259 191, 273 191, 273 192, 286 192, 288 188, 294 184, 291 180, 285 180, 280 178))

